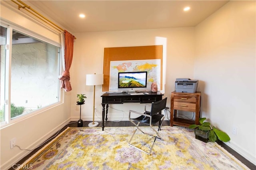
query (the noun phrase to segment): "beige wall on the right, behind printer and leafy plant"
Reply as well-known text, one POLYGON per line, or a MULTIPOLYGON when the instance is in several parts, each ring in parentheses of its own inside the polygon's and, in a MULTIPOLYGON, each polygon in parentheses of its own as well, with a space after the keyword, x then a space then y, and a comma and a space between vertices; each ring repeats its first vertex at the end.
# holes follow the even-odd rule
POLYGON ((194 65, 202 117, 228 133, 227 145, 254 164, 255 7, 255 1, 231 1, 197 25, 194 65))

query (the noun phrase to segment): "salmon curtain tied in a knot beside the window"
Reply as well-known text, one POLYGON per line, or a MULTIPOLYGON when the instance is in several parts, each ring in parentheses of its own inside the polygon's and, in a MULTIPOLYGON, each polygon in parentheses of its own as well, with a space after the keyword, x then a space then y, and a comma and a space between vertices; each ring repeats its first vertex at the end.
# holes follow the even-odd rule
POLYGON ((73 47, 74 47, 74 40, 75 37, 68 31, 64 31, 65 36, 65 46, 64 46, 64 61, 65 61, 65 69, 64 72, 61 74, 60 80, 61 82, 61 88, 64 88, 65 92, 69 92, 72 90, 71 84, 70 84, 70 73, 69 69, 72 63, 73 59, 73 47))

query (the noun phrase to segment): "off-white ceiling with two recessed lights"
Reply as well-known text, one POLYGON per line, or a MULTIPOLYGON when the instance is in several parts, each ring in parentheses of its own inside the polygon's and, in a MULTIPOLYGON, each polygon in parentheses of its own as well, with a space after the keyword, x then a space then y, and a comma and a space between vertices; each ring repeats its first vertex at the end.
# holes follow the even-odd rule
POLYGON ((29 0, 31 8, 71 33, 194 27, 226 0, 29 0), (190 11, 183 8, 190 6, 190 11), (84 19, 78 17, 86 15, 84 19))

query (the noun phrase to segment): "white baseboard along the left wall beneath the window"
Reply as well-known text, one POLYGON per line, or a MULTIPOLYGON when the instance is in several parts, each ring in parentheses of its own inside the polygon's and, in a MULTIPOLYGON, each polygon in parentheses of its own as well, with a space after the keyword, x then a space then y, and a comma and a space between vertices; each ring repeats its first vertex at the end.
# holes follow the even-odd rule
MULTIPOLYGON (((37 141, 32 143, 30 146, 28 146, 28 148, 36 148, 36 147, 38 147, 38 145, 40 145, 41 143, 43 143, 44 141, 49 139, 52 135, 54 135, 54 133, 58 132, 60 129, 62 129, 70 121, 71 121, 71 118, 69 118, 66 121, 64 121, 63 123, 59 124, 56 128, 52 129, 52 131, 49 131, 47 134, 45 134, 40 139, 38 139, 37 141)), ((13 165, 15 165, 14 168, 17 168, 16 163, 18 161, 20 161, 22 158, 24 158, 25 156, 27 156, 30 152, 32 152, 32 150, 31 151, 22 150, 19 154, 14 156, 12 159, 10 159, 9 161, 7 161, 4 164, 0 165, 0 169, 9 169, 13 165)))

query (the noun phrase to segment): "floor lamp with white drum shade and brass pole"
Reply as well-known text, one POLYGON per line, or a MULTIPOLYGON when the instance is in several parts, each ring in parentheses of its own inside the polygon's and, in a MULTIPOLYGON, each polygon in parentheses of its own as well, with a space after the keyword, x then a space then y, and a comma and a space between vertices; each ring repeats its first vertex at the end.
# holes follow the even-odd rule
POLYGON ((89 123, 89 127, 96 127, 98 126, 98 122, 94 122, 94 108, 95 108, 95 86, 103 84, 103 74, 86 74, 86 85, 87 86, 94 86, 93 89, 93 115, 92 115, 92 122, 89 123))

